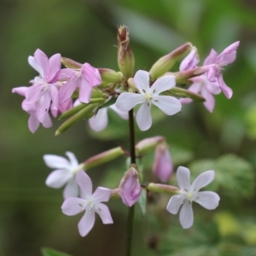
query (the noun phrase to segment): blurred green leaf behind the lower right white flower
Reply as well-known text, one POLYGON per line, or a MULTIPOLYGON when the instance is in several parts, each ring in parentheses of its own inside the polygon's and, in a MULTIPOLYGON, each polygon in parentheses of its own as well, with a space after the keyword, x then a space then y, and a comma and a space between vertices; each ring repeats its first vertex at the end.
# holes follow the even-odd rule
POLYGON ((244 197, 251 197, 254 191, 253 167, 247 160, 235 154, 225 154, 217 160, 197 160, 189 169, 192 177, 197 177, 201 172, 215 171, 215 179, 208 186, 212 190, 224 189, 224 193, 232 193, 244 197))

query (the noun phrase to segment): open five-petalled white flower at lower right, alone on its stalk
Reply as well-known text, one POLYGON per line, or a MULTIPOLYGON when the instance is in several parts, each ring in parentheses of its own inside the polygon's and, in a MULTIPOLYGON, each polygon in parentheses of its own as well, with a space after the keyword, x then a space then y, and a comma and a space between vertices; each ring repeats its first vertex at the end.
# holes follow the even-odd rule
POLYGON ((195 181, 190 185, 190 172, 188 168, 179 166, 177 168, 177 183, 180 190, 180 195, 173 195, 166 209, 172 214, 176 214, 178 209, 183 205, 179 213, 179 221, 183 229, 189 229, 194 221, 192 210, 193 201, 205 207, 208 210, 213 210, 218 207, 219 196, 215 192, 199 190, 214 179, 215 172, 207 171, 201 173, 195 178, 195 181))

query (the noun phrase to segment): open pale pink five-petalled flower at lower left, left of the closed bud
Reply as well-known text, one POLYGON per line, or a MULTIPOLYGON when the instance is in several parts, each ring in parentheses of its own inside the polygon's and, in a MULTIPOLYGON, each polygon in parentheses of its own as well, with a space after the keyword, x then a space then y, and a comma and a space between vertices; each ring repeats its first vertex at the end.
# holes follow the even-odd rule
POLYGON ((98 187, 92 194, 92 183, 90 177, 83 171, 78 172, 76 181, 82 191, 81 198, 69 197, 62 206, 62 212, 68 216, 84 212, 79 221, 79 233, 86 236, 95 223, 95 212, 102 218, 103 224, 113 224, 113 219, 106 205, 102 201, 108 201, 112 190, 98 187))

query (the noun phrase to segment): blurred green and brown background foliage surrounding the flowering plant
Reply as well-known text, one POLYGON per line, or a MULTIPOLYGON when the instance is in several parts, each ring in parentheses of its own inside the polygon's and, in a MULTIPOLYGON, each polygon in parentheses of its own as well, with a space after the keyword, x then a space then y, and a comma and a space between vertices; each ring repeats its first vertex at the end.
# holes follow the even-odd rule
MULTIPOLYGON (((253 0, 1 0, 0 2, 0 255, 41 255, 52 247, 72 255, 124 255, 127 208, 110 201, 113 225, 99 218, 88 236, 79 236, 81 215, 61 213, 62 189, 44 185, 48 167, 44 154, 72 151, 79 161, 121 143, 128 148, 127 122, 110 115, 107 130, 98 134, 80 122, 59 137, 50 129, 28 131, 22 97, 13 87, 27 85, 37 73, 28 55, 42 49, 61 53, 94 67, 117 70, 116 28, 129 26, 136 69, 148 70, 161 55, 187 41, 195 44, 201 63, 209 50, 221 52, 241 41, 236 62, 226 67, 224 80, 232 99, 216 96, 208 113, 200 103, 165 117, 154 110, 154 125, 138 131, 137 141, 166 136, 177 166, 189 166, 192 176, 213 169, 216 179, 207 189, 221 196, 218 209, 195 206, 195 224, 183 230, 177 216, 166 212, 166 196, 151 195, 148 213, 137 209, 133 255, 256 255, 256 3, 253 0)), ((151 174, 152 154, 143 160, 151 174)), ((118 185, 124 158, 89 172, 94 186, 118 185)), ((175 182, 175 175, 171 181, 175 182)))

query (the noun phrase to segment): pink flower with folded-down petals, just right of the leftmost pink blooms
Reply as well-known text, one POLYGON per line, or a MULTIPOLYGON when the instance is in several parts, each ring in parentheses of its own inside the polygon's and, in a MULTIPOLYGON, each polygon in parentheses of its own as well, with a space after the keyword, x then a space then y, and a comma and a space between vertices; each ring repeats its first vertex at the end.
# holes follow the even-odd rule
POLYGON ((84 63, 80 70, 69 69, 69 75, 70 79, 60 90, 60 102, 66 102, 79 88, 79 101, 89 103, 93 87, 102 84, 98 69, 90 66, 89 63, 84 63))

